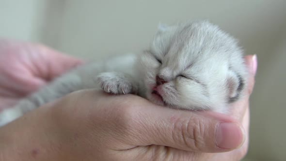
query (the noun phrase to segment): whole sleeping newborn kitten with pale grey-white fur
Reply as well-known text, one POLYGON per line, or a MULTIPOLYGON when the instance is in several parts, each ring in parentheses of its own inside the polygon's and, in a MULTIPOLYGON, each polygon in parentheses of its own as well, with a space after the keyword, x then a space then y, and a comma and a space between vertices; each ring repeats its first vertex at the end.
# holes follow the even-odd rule
POLYGON ((0 126, 73 91, 138 94, 171 108, 227 113, 246 87, 237 40, 207 21, 160 26, 149 50, 85 64, 0 113, 0 126))

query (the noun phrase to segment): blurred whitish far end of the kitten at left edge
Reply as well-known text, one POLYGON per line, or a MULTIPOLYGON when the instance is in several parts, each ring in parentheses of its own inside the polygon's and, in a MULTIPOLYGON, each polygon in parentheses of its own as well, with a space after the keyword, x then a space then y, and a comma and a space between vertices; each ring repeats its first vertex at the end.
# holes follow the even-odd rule
POLYGON ((10 108, 5 109, 0 113, 0 127, 16 120, 22 116, 22 113, 19 109, 16 108, 10 108))

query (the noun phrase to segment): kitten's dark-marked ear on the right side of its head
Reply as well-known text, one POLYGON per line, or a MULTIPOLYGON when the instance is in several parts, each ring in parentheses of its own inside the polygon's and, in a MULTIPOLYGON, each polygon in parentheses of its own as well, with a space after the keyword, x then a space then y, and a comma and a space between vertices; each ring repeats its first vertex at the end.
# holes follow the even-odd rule
POLYGON ((229 102, 234 102, 240 97, 244 87, 244 81, 234 71, 229 70, 227 73, 226 87, 228 89, 229 102))

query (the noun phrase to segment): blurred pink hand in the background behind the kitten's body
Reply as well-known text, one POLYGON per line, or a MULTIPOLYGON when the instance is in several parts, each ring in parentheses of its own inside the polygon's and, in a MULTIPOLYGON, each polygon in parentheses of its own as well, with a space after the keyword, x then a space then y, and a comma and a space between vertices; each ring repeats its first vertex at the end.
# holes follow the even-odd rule
POLYGON ((39 44, 0 40, 0 111, 78 64, 39 44))

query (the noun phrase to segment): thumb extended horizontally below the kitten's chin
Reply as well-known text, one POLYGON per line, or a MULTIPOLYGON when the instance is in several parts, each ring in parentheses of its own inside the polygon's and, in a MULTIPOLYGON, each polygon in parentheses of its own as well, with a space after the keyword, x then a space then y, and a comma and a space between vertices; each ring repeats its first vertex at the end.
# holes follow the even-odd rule
POLYGON ((144 107, 138 108, 137 121, 131 127, 140 135, 134 138, 137 145, 164 145, 211 153, 230 151, 244 142, 242 126, 226 115, 206 116, 147 101, 140 104, 144 107))

